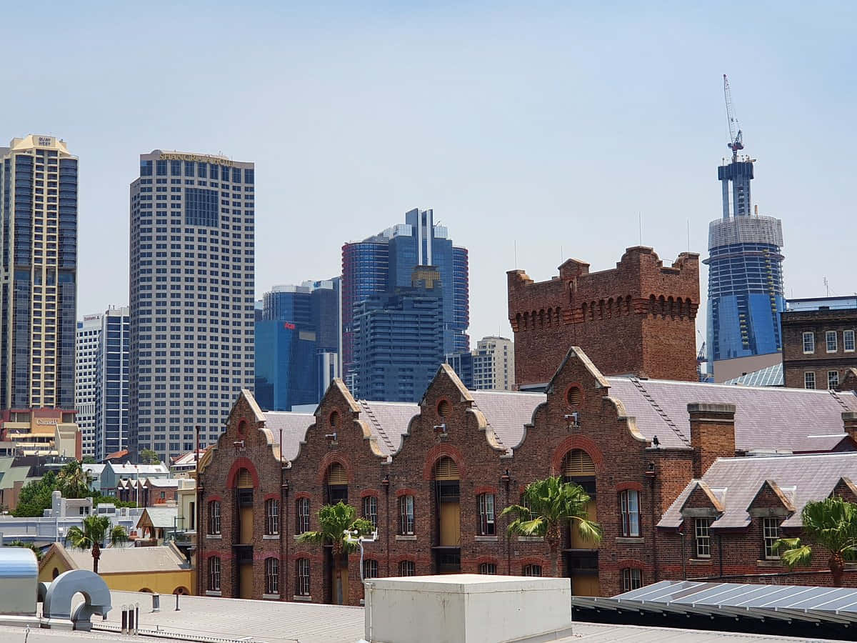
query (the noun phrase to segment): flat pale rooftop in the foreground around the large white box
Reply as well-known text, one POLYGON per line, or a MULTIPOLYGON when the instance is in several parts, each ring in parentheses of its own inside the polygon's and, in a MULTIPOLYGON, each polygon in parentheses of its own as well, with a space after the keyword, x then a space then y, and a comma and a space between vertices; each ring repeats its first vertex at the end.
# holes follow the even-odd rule
MULTIPOLYGON (((357 643, 363 638, 363 608, 339 605, 279 603, 238 598, 176 598, 161 595, 160 611, 152 613, 152 596, 137 592, 111 592, 113 609, 106 621, 93 619, 92 632, 31 629, 27 643, 74 643, 117 640, 122 606, 140 604, 141 632, 123 640, 243 641, 243 643, 357 643), (156 634, 157 633, 157 634, 156 634)), ((24 629, 0 626, 0 640, 24 640, 24 629)), ((578 622, 573 635, 558 643, 811 643, 821 639, 793 638, 734 632, 702 632, 678 628, 578 622)), ((830 641, 830 639, 827 639, 830 641)))

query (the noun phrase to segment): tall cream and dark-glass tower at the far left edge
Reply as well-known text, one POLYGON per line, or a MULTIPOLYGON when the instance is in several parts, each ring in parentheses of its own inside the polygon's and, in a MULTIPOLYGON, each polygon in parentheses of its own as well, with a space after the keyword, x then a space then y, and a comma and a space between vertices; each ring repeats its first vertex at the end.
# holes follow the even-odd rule
POLYGON ((77 157, 54 136, 0 147, 0 407, 75 406, 77 157))

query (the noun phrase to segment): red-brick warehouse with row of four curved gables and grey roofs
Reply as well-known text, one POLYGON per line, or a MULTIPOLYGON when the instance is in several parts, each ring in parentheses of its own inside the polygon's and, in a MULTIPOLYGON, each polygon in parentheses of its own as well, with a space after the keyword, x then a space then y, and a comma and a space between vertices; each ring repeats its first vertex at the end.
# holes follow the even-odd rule
MULTIPOLYGON (((296 542, 318 528, 323 504, 340 499, 378 527, 365 547, 367 576, 548 574, 546 545, 507 539, 499 514, 525 484, 551 473, 589 491, 590 516, 604 532, 597 548, 564 535, 561 568, 573 592, 614 595, 681 578, 682 569, 692 577, 698 563, 682 563, 674 522, 688 485, 740 456, 761 463, 763 479, 787 495, 800 488, 786 506, 789 516, 800 514, 808 499, 801 485, 809 483, 789 476, 801 467, 764 476, 765 463, 785 459, 746 456, 853 450, 846 428, 854 412, 853 392, 605 377, 576 347, 543 394, 468 391, 446 365, 419 404, 355 400, 335 381, 312 415, 262 412, 244 391, 200 464, 198 586, 225 597, 312 602, 339 602, 341 588, 345 603, 358 604, 359 555, 346 557, 334 585, 329 552, 296 542)), ((837 471, 857 476, 857 456, 845 460, 837 471)), ((820 469, 812 462, 805 468, 820 469)), ((825 484, 813 482, 812 493, 825 484)), ((756 557, 740 573, 758 559, 753 520, 740 529, 756 557)), ((710 525, 712 535, 718 527, 710 525)))

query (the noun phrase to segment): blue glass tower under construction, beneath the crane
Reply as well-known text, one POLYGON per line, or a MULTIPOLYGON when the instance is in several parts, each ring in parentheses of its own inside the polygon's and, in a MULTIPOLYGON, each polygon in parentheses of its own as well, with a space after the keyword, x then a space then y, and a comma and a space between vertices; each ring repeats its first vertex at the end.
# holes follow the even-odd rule
MULTIPOLYGON (((709 225, 708 364, 782 350, 782 223, 758 216, 750 201, 753 160, 734 154, 717 168, 723 216, 709 225), (731 190, 730 190, 731 184, 731 190), (730 203, 731 194, 731 203, 730 203)), ((773 357, 776 361, 776 356, 773 357)), ((744 364, 749 371, 767 364, 744 364)), ((723 369, 724 374, 727 370, 723 369)), ((740 373, 738 373, 740 375, 740 373)))

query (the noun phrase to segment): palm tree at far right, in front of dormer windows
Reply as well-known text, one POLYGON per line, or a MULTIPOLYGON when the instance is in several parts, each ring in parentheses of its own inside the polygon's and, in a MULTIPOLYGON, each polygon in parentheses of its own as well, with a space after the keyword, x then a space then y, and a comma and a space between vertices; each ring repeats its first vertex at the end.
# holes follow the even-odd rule
MULTIPOLYGON (((840 496, 807 502, 800 518, 806 538, 830 551, 827 564, 833 585, 842 587, 845 561, 857 556, 857 505, 840 496)), ((782 552, 782 560, 788 567, 810 563, 812 546, 800 544, 800 538, 780 538, 776 546, 787 548, 782 552)))

